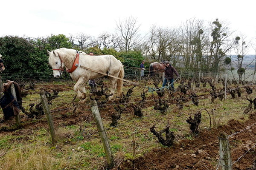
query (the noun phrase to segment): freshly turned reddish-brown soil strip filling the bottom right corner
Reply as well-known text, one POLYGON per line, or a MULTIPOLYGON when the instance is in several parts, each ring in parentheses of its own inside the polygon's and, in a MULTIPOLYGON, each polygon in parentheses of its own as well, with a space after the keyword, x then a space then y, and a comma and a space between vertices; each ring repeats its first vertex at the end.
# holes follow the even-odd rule
POLYGON ((256 125, 253 125, 255 122, 256 113, 251 114, 250 119, 244 123, 231 120, 225 126, 200 131, 194 140, 180 140, 172 147, 162 147, 133 161, 123 161, 113 170, 216 170, 217 167, 221 169, 221 166, 218 166, 220 131, 227 134, 236 133, 229 137, 231 157, 235 162, 233 170, 256 170, 256 125), (252 126, 247 128, 249 125, 252 126), (244 131, 240 132, 241 130, 244 131), (242 156, 245 152, 247 153, 242 156), (242 157, 239 159, 240 156, 242 157))

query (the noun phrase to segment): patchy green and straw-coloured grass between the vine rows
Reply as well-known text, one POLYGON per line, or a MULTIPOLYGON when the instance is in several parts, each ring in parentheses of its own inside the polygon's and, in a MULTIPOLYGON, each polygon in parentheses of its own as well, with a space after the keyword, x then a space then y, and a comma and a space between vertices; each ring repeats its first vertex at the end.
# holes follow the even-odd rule
MULTIPOLYGON (((55 83, 56 85, 67 85, 65 82, 55 83)), ((132 86, 125 86, 124 92, 132 86)), ((153 87, 153 86, 152 86, 153 87)), ((209 87, 207 87, 209 88, 209 87)), ((134 88, 134 94, 130 97, 131 103, 138 104, 141 99, 140 93, 143 91, 143 85, 134 88)), ((199 91, 198 94, 209 95, 208 92, 199 91)), ((53 144, 50 139, 48 126, 41 125, 47 122, 45 116, 41 119, 27 120, 23 124, 35 124, 36 127, 21 128, 12 132, 0 133, 0 153, 6 152, 5 156, 0 157, 1 168, 5 170, 27 170, 35 167, 37 170, 96 170, 100 169, 105 163, 105 152, 102 141, 99 137, 96 124, 92 119, 91 122, 82 121, 84 113, 90 113, 90 102, 87 102, 81 110, 79 110, 79 99, 74 103, 77 105, 79 112, 73 113, 73 98, 75 93, 73 90, 60 92, 58 98, 53 99, 50 105, 53 117, 56 120, 55 127, 58 137, 57 143, 53 144), (71 109, 61 111, 59 108, 69 107, 71 109), (60 114, 61 113, 61 114, 60 114), (79 114, 78 114, 79 113, 79 114), (69 119, 64 116, 70 117, 69 119), (76 119, 72 124, 66 124, 68 121, 76 119), (58 123, 57 123, 58 122, 58 123), (79 128, 82 127, 80 131, 79 128), (9 147, 11 145, 11 147, 9 147)), ((245 95, 243 92, 242 95, 245 95)), ((157 94, 154 92, 154 96, 157 94)), ((152 94, 146 93, 148 102, 151 105, 143 108, 143 117, 134 116, 133 109, 122 113, 121 119, 118 120, 117 127, 110 127, 111 113, 105 108, 99 108, 102 115, 103 124, 109 139, 111 150, 114 158, 134 159, 143 156, 154 148, 163 147, 156 142, 157 138, 149 131, 150 127, 156 125, 156 130, 160 131, 170 125, 169 130, 174 132, 176 143, 180 139, 193 140, 194 136, 189 132, 189 124, 186 119, 189 116, 194 117, 194 113, 205 108, 209 113, 215 109, 215 121, 218 125, 226 124, 230 119, 239 120, 248 117, 243 114, 244 108, 248 105, 246 99, 230 99, 230 95, 222 102, 215 99, 213 103, 210 99, 201 99, 199 107, 195 106, 191 101, 187 102, 183 110, 178 110, 177 106, 169 105, 166 115, 155 111, 154 100, 152 94), (150 101, 149 101, 150 100, 150 101), (103 110, 105 113, 102 113, 103 110), (136 153, 133 156, 132 134, 135 133, 136 153)), ((166 96, 168 97, 168 96, 166 96)), ((23 106, 29 111, 30 103, 40 102, 39 94, 30 94, 23 98, 23 106)), ((109 107, 113 107, 110 105, 109 107)), ((124 106, 123 106, 124 107, 124 106)), ((113 109, 114 110, 114 109, 113 109)), ((205 110, 201 110, 202 119, 199 130, 209 127, 209 115, 205 110)), ((21 119, 25 116, 20 113, 21 119)), ((90 116, 90 114, 88 114, 90 116)), ((163 134, 164 136, 164 134, 163 134)))

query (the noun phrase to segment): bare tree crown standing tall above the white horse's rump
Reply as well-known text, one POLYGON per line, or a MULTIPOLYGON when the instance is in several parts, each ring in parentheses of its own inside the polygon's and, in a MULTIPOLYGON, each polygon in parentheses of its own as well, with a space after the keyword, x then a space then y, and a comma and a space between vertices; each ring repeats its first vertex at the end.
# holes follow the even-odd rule
POLYGON ((124 21, 119 20, 116 26, 117 34, 121 38, 121 43, 119 44, 121 50, 125 52, 130 51, 140 43, 140 25, 138 25, 136 18, 129 17, 124 21))

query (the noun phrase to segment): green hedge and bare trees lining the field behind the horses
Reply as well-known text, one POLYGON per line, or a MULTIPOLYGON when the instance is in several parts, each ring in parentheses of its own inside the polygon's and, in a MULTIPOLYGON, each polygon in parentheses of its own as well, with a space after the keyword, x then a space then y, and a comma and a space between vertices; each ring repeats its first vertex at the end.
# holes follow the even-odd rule
POLYGON ((0 54, 6 66, 2 75, 43 74, 42 78, 48 79, 52 70, 48 65, 47 50, 63 47, 86 53, 93 51, 95 55, 111 54, 129 67, 139 67, 142 60, 147 61, 146 67, 150 62, 165 60, 186 71, 237 71, 239 79, 248 68, 243 65, 249 49, 247 42, 242 36, 233 39, 230 28, 218 19, 209 26, 195 19, 179 28, 152 26, 143 38, 139 28, 137 20, 129 17, 117 23, 116 34, 105 32, 97 38, 83 33, 69 37, 64 34, 38 38, 0 37, 0 54), (230 51, 236 51, 236 55, 231 57, 228 55, 230 51))

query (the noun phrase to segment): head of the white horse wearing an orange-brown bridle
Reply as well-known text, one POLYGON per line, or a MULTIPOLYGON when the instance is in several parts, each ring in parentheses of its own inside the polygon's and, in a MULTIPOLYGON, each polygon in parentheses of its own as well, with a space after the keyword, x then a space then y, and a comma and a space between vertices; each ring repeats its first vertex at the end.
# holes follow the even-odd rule
POLYGON ((64 63, 61 61, 61 57, 55 51, 47 50, 47 53, 49 54, 49 64, 52 67, 53 76, 56 78, 61 77, 63 67, 64 67, 64 63))

